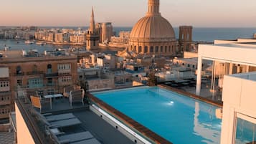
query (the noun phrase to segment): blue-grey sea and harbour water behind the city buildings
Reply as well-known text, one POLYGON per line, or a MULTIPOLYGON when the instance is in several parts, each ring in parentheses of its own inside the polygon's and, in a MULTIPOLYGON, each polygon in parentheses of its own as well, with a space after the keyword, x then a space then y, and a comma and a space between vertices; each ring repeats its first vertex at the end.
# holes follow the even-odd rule
MULTIPOLYGON (((42 29, 87 29, 87 27, 39 27, 42 29)), ((132 27, 113 27, 113 31, 118 36, 121 31, 131 31, 132 27)), ((174 27, 174 32, 176 38, 179 37, 179 27, 174 27)), ((215 39, 237 39, 237 38, 252 38, 253 34, 256 33, 255 28, 203 28, 203 27, 193 27, 193 41, 197 42, 214 42, 215 39)), ((53 49, 67 49, 70 46, 62 45, 52 45, 46 44, 40 46, 37 44, 24 44, 22 40, 14 39, 0 39, 0 49, 4 47, 9 47, 10 49, 37 49, 39 52, 44 52, 45 50, 53 49)))

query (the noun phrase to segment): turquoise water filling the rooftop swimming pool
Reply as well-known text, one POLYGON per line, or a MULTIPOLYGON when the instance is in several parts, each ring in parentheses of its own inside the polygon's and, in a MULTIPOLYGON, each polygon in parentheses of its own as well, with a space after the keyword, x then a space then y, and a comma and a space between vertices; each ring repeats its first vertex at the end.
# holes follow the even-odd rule
POLYGON ((160 87, 95 92, 115 109, 174 144, 217 144, 221 120, 218 107, 160 87))

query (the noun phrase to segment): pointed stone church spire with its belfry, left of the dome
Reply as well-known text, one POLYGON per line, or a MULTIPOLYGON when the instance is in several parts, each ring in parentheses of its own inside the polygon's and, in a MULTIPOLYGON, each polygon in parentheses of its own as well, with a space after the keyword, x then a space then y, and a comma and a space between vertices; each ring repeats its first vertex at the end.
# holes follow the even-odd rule
POLYGON ((94 21, 94 12, 92 10, 92 16, 90 19, 90 28, 88 29, 87 35, 86 35, 86 40, 87 40, 87 50, 97 50, 99 47, 99 34, 97 30, 95 29, 95 21, 94 21))

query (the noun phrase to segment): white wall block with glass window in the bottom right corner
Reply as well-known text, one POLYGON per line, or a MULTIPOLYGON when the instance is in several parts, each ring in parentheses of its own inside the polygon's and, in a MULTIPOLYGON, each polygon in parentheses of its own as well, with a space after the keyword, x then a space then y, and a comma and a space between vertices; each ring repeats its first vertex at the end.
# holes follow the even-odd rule
POLYGON ((256 143, 256 72, 224 76, 221 144, 256 143))

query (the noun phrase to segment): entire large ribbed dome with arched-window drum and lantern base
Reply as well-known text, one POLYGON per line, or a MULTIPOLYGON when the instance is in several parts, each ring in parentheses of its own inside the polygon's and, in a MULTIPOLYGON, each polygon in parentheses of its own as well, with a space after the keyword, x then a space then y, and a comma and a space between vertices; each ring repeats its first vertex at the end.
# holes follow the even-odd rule
POLYGON ((148 0, 148 12, 134 25, 128 50, 137 54, 176 54, 178 42, 174 29, 159 12, 159 0, 148 0))

